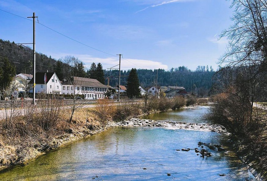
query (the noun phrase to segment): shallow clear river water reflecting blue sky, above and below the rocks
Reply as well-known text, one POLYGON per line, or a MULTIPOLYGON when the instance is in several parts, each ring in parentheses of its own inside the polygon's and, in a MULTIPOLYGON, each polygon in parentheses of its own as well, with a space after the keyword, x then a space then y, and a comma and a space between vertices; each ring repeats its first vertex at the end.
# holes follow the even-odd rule
MULTIPOLYGON (((180 121, 197 122, 203 109, 171 111, 166 117, 172 119, 177 114, 180 121)), ((0 180, 255 180, 234 153, 225 156, 211 151, 213 156, 202 158, 194 150, 176 151, 198 147, 198 141, 223 144, 231 151, 227 139, 215 132, 115 127, 49 152, 24 167, 0 173, 0 180)))

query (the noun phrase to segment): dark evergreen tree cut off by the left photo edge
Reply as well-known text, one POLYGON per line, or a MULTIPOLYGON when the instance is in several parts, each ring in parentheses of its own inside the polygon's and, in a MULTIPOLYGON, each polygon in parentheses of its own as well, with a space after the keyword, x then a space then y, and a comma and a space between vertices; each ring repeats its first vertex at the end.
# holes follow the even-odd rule
POLYGON ((6 89, 16 75, 16 67, 7 58, 2 58, 0 61, 4 63, 0 70, 0 88, 6 89))

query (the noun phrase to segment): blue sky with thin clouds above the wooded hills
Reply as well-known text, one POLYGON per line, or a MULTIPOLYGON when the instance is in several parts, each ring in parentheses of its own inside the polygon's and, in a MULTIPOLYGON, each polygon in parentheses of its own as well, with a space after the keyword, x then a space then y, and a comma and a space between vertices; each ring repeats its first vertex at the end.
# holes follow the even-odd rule
MULTIPOLYGON (((230 4, 226 0, 0 0, 0 9, 25 18, 35 12, 39 23, 73 39, 36 23, 36 51, 56 59, 73 55, 87 68, 92 62, 102 63, 104 69, 116 66, 117 54, 122 54, 123 70, 178 66, 195 70, 199 65, 216 70, 227 44, 218 36, 232 24, 230 4)), ((21 17, 0 10, 0 39, 32 43, 32 22, 21 17)))

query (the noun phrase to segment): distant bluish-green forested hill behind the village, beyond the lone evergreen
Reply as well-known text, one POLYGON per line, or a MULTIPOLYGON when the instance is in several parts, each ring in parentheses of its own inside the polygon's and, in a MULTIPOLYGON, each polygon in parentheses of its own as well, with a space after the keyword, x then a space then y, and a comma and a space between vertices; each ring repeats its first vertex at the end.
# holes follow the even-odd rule
MULTIPOLYGON (((214 74, 213 69, 207 70, 197 68, 196 71, 191 71, 184 66, 165 71, 164 69, 158 70, 158 86, 183 86, 188 92, 192 89, 205 89, 205 92, 209 91, 212 84, 212 76, 214 74), (184 69, 182 69, 184 68, 184 69)), ((121 71, 121 85, 125 85, 130 70, 121 71)), ((142 87, 156 85, 157 70, 138 69, 137 74, 142 87)), ((105 70, 106 77, 109 77, 109 85, 118 85, 118 70, 105 70)))

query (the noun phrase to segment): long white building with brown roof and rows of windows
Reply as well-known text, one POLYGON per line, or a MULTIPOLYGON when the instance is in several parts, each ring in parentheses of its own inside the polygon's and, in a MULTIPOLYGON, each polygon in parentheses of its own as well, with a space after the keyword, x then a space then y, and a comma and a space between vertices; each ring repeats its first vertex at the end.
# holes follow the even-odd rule
POLYGON ((103 99, 108 87, 96 79, 73 77, 72 81, 62 82, 62 94, 84 95, 85 99, 103 99))

